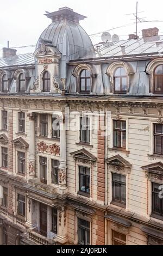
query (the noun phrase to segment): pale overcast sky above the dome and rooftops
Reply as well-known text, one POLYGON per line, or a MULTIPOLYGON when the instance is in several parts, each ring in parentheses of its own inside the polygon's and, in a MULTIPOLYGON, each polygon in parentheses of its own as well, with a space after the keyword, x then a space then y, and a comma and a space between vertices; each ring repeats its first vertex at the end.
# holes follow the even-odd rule
MULTIPOLYGON (((0 48, 7 46, 10 41, 10 47, 35 45, 42 31, 51 23, 45 14, 45 11, 57 11, 60 7, 70 7, 79 14, 87 16, 87 19, 80 22, 80 25, 88 34, 94 34, 101 31, 108 31, 120 36, 120 39, 126 39, 126 36, 136 31, 135 24, 113 29, 129 23, 134 23, 133 15, 135 13, 136 0, 0 0, 0 48), (112 30, 111 30, 112 29, 112 30)), ((139 0, 139 17, 146 21, 163 20, 162 0, 149 2, 148 0, 139 0)), ((139 35, 142 28, 158 27, 160 34, 163 34, 163 22, 145 22, 139 23, 139 35)), ((91 36, 93 42, 101 41, 101 34, 91 36)), ((29 49, 27 49, 29 51, 29 49)), ((31 51, 31 49, 30 49, 31 51)), ((20 52, 20 49, 18 50, 20 52)), ((0 51, 1 53, 1 51, 0 51)))

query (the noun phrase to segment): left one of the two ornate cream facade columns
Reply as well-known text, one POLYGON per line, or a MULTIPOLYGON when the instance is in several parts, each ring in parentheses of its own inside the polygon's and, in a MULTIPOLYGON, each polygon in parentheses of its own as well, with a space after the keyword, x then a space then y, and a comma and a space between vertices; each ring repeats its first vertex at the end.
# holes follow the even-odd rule
POLYGON ((29 143, 29 179, 35 178, 35 114, 27 115, 30 121, 30 143, 29 143))

